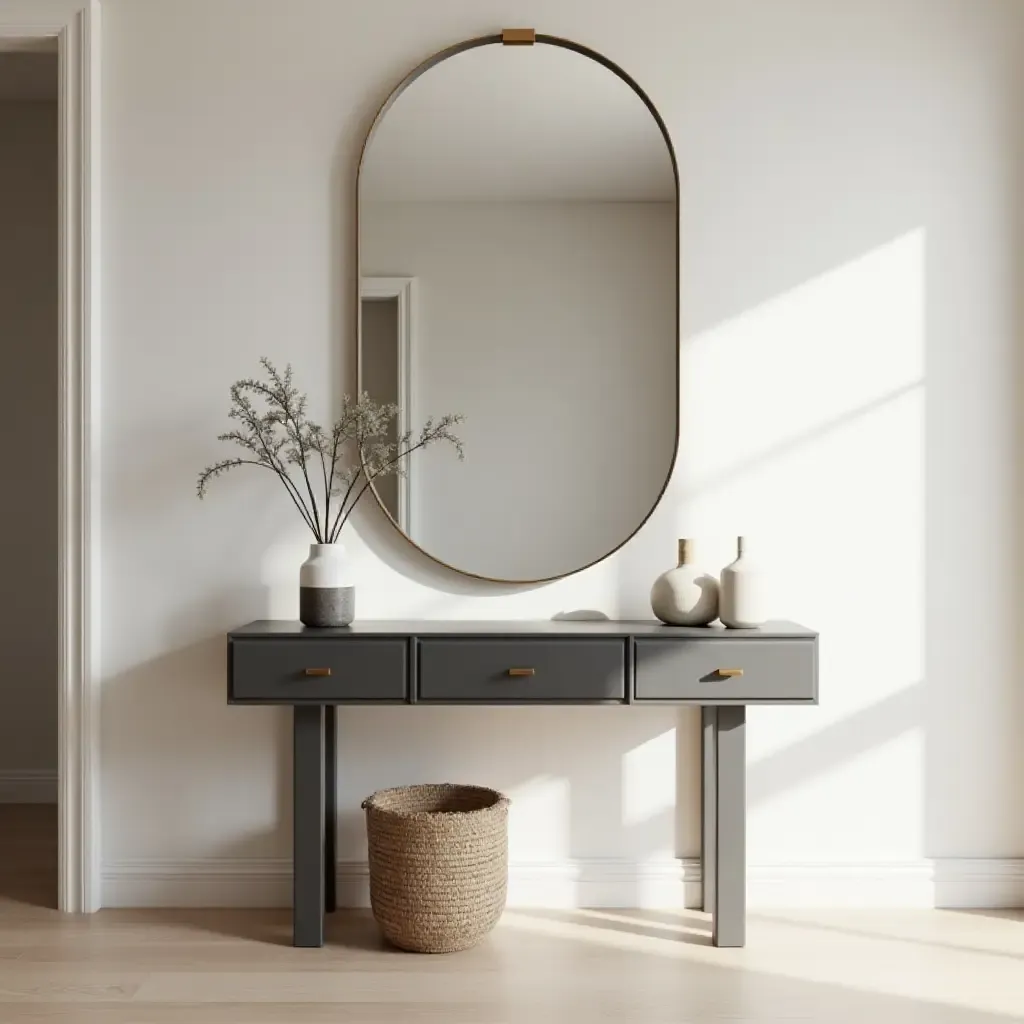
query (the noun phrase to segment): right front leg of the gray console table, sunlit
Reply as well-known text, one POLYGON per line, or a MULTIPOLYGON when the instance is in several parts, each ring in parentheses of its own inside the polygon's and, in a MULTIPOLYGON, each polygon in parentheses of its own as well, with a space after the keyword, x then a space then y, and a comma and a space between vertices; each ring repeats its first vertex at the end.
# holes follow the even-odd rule
POLYGON ((746 932, 746 709, 720 707, 715 727, 716 946, 741 946, 746 932))

